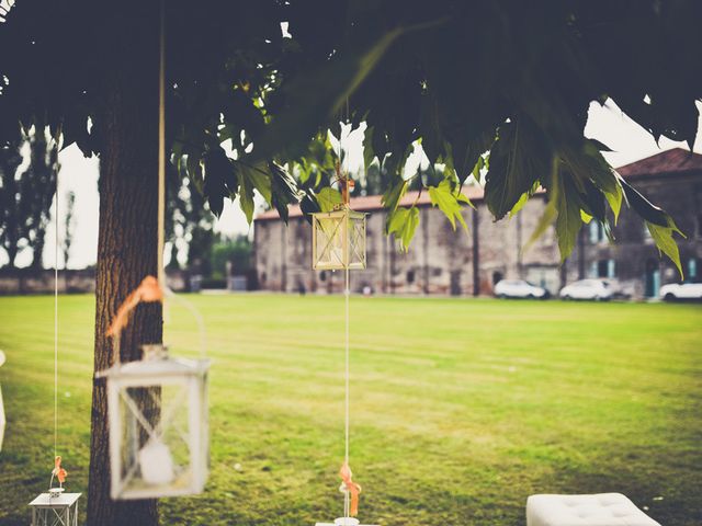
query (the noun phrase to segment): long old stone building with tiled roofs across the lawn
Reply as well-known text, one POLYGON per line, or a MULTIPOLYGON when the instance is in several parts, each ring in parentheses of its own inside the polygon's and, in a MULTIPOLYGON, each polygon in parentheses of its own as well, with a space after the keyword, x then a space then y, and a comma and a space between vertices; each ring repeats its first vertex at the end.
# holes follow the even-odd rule
MULTIPOLYGON (((618 172, 644 196, 663 206, 676 219, 687 239, 679 240, 686 277, 697 279, 702 264, 702 156, 668 150, 627 164, 618 172)), ((431 206, 427 192, 408 193, 400 206, 417 202, 420 224, 407 253, 398 250, 384 231, 386 213, 380 196, 353 198, 351 207, 367 216, 367 267, 351 273, 351 286, 369 286, 380 294, 490 295, 502 278, 524 278, 552 293, 578 278, 616 279, 634 297, 656 296, 663 283, 678 279, 673 265, 658 256, 642 220, 622 209, 610 243, 600 225, 582 228, 578 245, 561 265, 555 229, 550 228, 528 251, 521 248, 534 231, 545 207, 536 194, 516 217, 492 221, 483 201, 483 188, 464 193, 475 205, 465 207, 468 225, 453 231, 443 213, 431 206)), ((299 207, 291 207, 287 227, 270 210, 256 218, 256 271, 265 290, 338 293, 341 273, 312 270, 312 227, 299 207)))

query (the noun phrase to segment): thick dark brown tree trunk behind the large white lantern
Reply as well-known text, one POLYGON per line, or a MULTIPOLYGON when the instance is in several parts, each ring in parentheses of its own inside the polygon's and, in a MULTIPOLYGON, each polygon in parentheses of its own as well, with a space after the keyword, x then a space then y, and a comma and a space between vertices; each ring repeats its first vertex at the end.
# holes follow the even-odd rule
MULTIPOLYGON (((102 140, 95 286, 95 371, 112 365, 105 331, 125 297, 157 273, 158 2, 106 3, 103 110, 94 125, 102 140), (116 20, 115 20, 116 19, 116 20), (110 27, 114 30, 110 31, 110 27)), ((122 361, 139 345, 160 342, 159 305, 140 305, 122 336, 122 361)), ((93 380, 88 492, 89 526, 158 524, 157 501, 110 499, 105 380, 93 380)))

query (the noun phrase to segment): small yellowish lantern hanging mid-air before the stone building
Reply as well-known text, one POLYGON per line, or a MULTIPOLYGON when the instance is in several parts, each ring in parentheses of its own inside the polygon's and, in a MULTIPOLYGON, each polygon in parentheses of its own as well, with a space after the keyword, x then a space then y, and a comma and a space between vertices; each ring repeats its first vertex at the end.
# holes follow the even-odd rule
POLYGON ((365 268, 365 216, 342 206, 312 215, 313 268, 365 268))

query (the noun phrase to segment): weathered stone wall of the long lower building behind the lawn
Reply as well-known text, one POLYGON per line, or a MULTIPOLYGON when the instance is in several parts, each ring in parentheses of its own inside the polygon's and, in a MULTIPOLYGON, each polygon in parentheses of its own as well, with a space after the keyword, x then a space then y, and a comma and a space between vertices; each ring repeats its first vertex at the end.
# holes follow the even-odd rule
MULTIPOLYGON (((441 210, 420 206, 419 227, 407 252, 384 235, 386 213, 374 210, 367 216, 366 268, 351 273, 351 288, 356 293, 371 287, 381 294, 477 296, 491 294, 499 278, 524 274, 555 287, 558 265, 554 263, 553 228, 523 256, 519 249, 543 207, 543 199, 534 198, 525 205, 523 216, 495 222, 487 207, 476 203, 476 209, 463 210, 467 230, 456 224, 454 231, 441 210)), ((262 289, 332 294, 343 288, 341 273, 312 270, 312 226, 304 218, 291 218, 287 227, 280 220, 257 221, 254 245, 262 289)))

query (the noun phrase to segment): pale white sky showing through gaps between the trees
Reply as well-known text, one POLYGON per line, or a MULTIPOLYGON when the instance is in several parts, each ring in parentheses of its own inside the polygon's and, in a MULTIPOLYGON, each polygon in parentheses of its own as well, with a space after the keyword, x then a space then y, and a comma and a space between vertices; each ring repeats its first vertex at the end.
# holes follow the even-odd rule
MULTIPOLYGON (((698 104, 698 110, 702 112, 702 104, 698 104)), ((702 117, 699 121, 700 130, 694 151, 702 153, 702 117)), ((612 152, 605 152, 607 160, 613 167, 621 167, 630 162, 656 155, 663 150, 686 147, 682 142, 676 142, 661 138, 657 145, 655 139, 641 126, 629 118, 612 101, 608 101, 604 106, 592 103, 589 108, 588 123, 585 128, 586 137, 595 138, 608 145, 612 152)), ((354 132, 343 138, 344 147, 349 145, 350 162, 352 167, 361 165, 363 152, 361 147, 362 134, 354 132)), ((59 153, 61 169, 59 172, 59 242, 63 233, 63 218, 66 208, 66 199, 69 192, 76 194, 76 229, 73 244, 68 262, 69 268, 83 268, 95 263, 98 253, 98 171, 99 162, 95 158, 84 158, 80 150, 73 145, 65 148, 59 153)), ((418 163, 419 160, 412 159, 418 163)), ((262 207, 261 199, 257 199, 259 208, 262 207)), ((47 229, 46 249, 44 251, 44 265, 54 266, 54 220, 55 205, 52 207, 52 224, 47 229)), ((227 235, 250 235, 252 227, 247 224, 244 213, 238 204, 226 202, 222 217, 216 220, 215 229, 227 235)), ((1 258, 1 255, 0 255, 1 258)), ((18 256, 18 265, 24 266, 30 263, 31 255, 22 253, 18 256)), ((0 260, 0 264, 3 263, 0 260)), ((64 268, 63 256, 59 254, 58 267, 64 268)))

